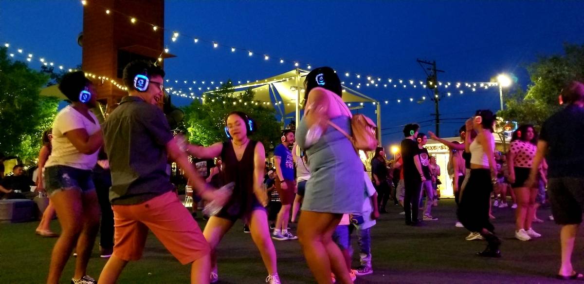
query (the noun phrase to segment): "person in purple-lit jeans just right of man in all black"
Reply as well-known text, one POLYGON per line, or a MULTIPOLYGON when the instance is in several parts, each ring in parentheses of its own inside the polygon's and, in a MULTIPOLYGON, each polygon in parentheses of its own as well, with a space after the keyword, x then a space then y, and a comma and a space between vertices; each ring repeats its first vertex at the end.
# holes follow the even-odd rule
MULTIPOLYGON (((428 150, 424 148, 428 141, 428 137, 425 133, 418 133, 416 136, 418 140, 420 165, 422 166, 422 172, 424 175, 424 181, 420 186, 420 199, 422 192, 426 193, 426 205, 424 206, 423 219, 424 221, 436 221, 438 218, 432 217, 432 205, 434 204, 434 188, 432 186, 433 176, 430 170, 430 154, 428 150)), ((416 207, 416 210, 418 208, 416 207)))

